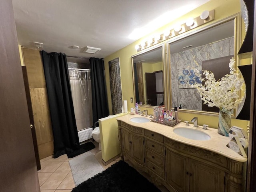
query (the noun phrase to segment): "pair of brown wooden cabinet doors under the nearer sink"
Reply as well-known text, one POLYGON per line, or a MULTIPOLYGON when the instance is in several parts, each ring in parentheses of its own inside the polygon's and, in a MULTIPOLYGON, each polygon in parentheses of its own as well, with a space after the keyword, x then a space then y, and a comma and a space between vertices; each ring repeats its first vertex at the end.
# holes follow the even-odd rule
POLYGON ((224 192, 225 172, 166 148, 166 181, 179 192, 224 192))

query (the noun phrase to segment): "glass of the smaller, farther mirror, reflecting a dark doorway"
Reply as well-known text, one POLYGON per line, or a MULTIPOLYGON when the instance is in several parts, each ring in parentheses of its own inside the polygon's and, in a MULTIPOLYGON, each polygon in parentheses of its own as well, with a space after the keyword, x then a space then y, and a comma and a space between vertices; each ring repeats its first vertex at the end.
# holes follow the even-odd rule
POLYGON ((135 102, 164 105, 162 46, 132 57, 135 102))

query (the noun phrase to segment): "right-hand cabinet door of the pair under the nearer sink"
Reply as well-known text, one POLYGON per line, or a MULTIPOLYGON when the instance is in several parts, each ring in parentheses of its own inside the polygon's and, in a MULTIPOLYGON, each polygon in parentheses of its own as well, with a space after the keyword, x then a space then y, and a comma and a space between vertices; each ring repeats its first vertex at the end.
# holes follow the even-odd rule
POLYGON ((190 159, 190 192, 224 192, 225 172, 190 159))

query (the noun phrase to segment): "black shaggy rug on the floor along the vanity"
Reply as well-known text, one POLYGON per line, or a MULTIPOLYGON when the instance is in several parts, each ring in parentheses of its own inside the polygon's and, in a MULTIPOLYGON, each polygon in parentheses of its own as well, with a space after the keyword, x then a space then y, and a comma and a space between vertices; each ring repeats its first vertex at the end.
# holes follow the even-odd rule
POLYGON ((82 182, 72 192, 161 192, 124 161, 82 182))

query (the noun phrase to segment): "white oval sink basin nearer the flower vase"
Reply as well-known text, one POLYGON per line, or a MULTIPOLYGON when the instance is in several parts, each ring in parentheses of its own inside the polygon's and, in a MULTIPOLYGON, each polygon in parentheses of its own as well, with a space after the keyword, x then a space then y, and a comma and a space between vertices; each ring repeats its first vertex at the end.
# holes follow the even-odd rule
POLYGON ((174 128, 173 132, 179 136, 182 136, 188 139, 193 139, 193 140, 204 141, 204 140, 209 140, 211 138, 208 134, 193 128, 178 127, 178 128, 174 128))

